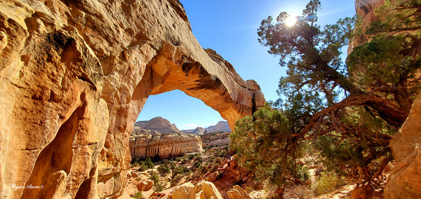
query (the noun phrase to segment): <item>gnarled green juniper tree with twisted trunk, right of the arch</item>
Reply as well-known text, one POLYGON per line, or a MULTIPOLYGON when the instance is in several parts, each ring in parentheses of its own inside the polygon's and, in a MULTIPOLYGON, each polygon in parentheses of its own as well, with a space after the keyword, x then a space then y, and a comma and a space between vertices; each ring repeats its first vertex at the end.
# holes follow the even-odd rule
POLYGON ((386 1, 378 12, 405 15, 406 25, 392 16, 373 22, 364 33, 356 18, 321 29, 316 24, 319 0, 310 1, 293 26, 285 12, 276 22, 263 20, 259 42, 281 57, 287 76, 279 81, 282 98, 272 104, 276 108, 266 106, 237 121, 230 138, 241 153, 239 164, 275 184, 302 184, 305 174, 297 158, 303 146, 312 144, 330 169, 370 185, 392 160, 389 140, 420 88, 417 2, 386 1), (406 30, 412 32, 400 32, 406 30), (341 48, 357 36, 366 43, 344 62, 341 48))

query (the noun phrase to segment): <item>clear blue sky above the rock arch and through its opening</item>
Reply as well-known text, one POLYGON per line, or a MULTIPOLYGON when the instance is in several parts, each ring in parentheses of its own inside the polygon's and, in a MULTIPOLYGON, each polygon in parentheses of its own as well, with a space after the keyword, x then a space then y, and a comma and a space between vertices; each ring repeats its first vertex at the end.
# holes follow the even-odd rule
MULTIPOLYGON (((244 79, 260 84, 266 100, 278 99, 276 89, 286 69, 280 67, 279 57, 267 53, 258 43, 260 22, 286 11, 300 15, 309 0, 180 0, 192 25, 192 31, 203 48, 212 48, 230 62, 244 79)), ((335 23, 355 14, 354 0, 321 0, 319 25, 335 23)), ((180 90, 151 95, 138 121, 156 116, 175 123, 180 130, 215 125, 223 118, 201 100, 180 90)))

